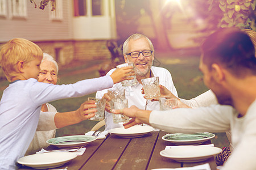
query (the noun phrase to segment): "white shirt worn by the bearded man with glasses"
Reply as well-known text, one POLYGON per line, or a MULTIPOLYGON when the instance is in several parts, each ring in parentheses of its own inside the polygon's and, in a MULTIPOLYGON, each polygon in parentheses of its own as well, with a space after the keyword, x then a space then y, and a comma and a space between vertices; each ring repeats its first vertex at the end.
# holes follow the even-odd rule
MULTIPOLYGON (((115 69, 110 70, 106 75, 111 75, 115 69)), ((164 69, 162 67, 151 67, 152 74, 154 76, 159 77, 159 83, 165 86, 168 90, 172 92, 177 97, 177 91, 174 86, 174 82, 172 82, 172 76, 170 72, 167 69, 164 69)), ((145 109, 146 108, 146 99, 144 99, 144 95, 141 94, 141 89, 142 89, 142 84, 137 83, 134 86, 130 87, 125 87, 125 96, 126 99, 128 99, 128 105, 129 107, 131 105, 135 105, 139 109, 145 109)), ((117 83, 114 84, 113 88, 121 89, 122 84, 117 83)), ((97 91, 96 93, 96 98, 101 99, 102 96, 108 92, 108 89, 102 90, 102 91, 97 91)), ((159 102, 158 101, 153 101, 151 102, 150 100, 147 101, 147 110, 159 110, 159 102)), ((105 130, 113 129, 113 128, 119 128, 122 127, 122 125, 119 124, 114 124, 113 122, 113 117, 112 114, 109 112, 105 112, 105 130)))

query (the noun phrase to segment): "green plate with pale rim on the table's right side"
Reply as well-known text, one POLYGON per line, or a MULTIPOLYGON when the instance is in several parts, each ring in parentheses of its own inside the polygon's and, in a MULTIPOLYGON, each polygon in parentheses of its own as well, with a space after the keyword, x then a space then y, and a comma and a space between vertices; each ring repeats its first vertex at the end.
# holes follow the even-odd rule
POLYGON ((213 133, 208 132, 194 134, 172 133, 164 135, 162 139, 176 145, 199 145, 214 137, 213 133))

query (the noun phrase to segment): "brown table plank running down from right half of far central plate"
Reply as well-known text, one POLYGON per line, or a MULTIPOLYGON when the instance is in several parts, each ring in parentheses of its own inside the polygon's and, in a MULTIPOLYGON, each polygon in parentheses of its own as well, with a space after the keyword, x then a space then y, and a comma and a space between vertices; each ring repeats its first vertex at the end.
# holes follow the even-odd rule
POLYGON ((158 131, 153 131, 143 137, 131 138, 129 146, 123 152, 114 169, 146 169, 157 139, 158 131))

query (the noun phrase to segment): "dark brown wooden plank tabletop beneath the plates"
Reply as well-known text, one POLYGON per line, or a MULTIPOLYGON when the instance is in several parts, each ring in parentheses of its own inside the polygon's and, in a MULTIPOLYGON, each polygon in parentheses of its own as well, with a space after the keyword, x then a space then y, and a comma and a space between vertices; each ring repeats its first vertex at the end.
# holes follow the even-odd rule
MULTIPOLYGON (((203 162, 180 163, 169 158, 164 158, 159 153, 172 143, 163 141, 167 132, 152 131, 139 138, 121 138, 110 134, 106 139, 97 139, 86 145, 83 155, 77 156, 71 162, 61 167, 68 170, 77 169, 154 169, 154 168, 179 168, 192 167, 209 163, 211 169, 216 169, 215 159, 209 158, 203 162)), ((201 145, 210 144, 210 140, 201 145)), ((47 150, 57 149, 49 146, 47 150)), ((21 167, 19 169, 32 169, 21 167)))

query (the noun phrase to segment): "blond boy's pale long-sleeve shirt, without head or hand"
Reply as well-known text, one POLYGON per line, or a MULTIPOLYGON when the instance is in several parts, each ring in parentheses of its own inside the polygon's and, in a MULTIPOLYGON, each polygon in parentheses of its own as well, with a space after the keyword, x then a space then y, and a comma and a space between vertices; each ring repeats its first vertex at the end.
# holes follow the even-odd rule
POLYGON ((0 169, 15 169, 16 161, 24 156, 38 126, 42 104, 112 86, 110 76, 67 85, 39 83, 33 78, 11 83, 0 101, 0 169))

